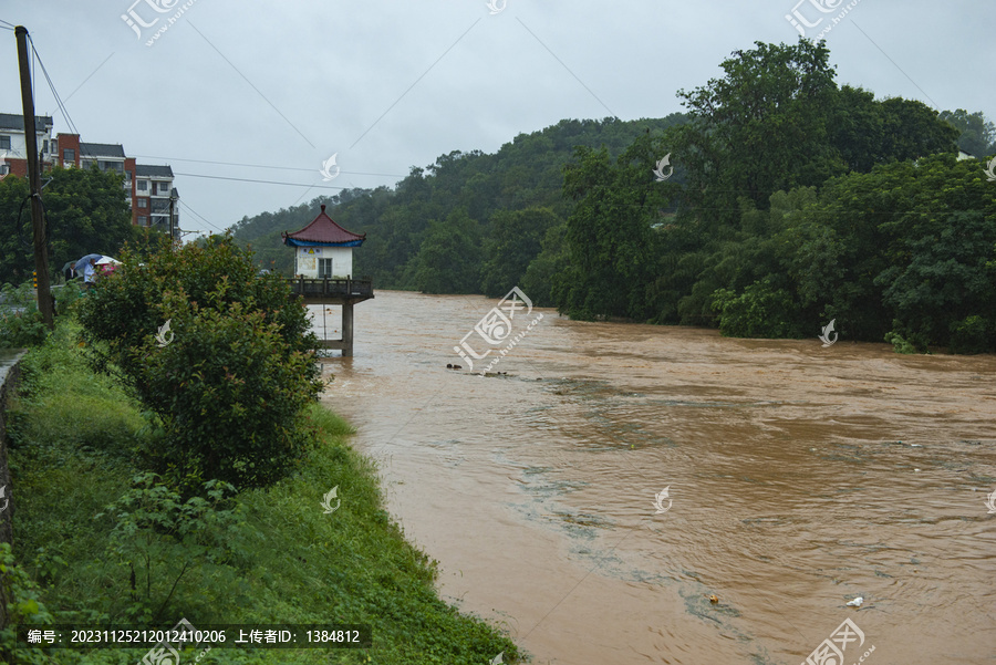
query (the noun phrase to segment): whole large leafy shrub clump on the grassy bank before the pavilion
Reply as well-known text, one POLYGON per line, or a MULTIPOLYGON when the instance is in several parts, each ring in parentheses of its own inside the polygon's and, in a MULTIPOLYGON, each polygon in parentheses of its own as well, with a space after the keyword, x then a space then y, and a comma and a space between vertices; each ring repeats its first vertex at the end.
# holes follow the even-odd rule
POLYGON ((287 284, 258 277, 251 256, 229 237, 164 242, 144 266, 125 250, 80 305, 97 366, 158 416, 146 460, 174 480, 267 486, 309 445, 298 417, 322 389, 317 339, 287 284))

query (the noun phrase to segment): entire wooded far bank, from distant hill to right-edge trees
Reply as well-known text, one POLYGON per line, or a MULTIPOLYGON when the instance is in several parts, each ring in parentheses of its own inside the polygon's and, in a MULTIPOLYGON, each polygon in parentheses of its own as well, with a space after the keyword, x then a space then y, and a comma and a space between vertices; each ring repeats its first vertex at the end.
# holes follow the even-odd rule
POLYGON ((324 202, 367 233, 355 272, 377 288, 519 285, 577 319, 764 337, 836 319, 847 340, 996 351, 993 123, 839 86, 823 43, 758 42, 722 67, 678 92, 685 114, 562 121, 394 189, 243 218, 236 237, 289 274, 280 232, 324 202))

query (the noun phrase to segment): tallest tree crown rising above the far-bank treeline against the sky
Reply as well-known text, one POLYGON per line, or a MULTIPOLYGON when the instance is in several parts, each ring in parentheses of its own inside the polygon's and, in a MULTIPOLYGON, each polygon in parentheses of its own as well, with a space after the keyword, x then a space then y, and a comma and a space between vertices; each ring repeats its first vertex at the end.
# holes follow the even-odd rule
POLYGON ((764 208, 779 189, 819 185, 847 166, 829 139, 837 84, 826 44, 756 43, 725 60, 726 75, 678 96, 691 122, 675 132, 674 160, 688 173, 686 196, 725 222, 737 199, 764 208))

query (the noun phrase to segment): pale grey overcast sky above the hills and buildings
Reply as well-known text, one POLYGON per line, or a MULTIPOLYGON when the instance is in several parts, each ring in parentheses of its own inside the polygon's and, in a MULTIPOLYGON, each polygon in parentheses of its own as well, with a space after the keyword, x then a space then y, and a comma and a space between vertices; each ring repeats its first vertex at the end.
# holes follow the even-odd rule
MULTIPOLYGON (((793 43, 793 9, 822 19, 807 37, 847 12, 826 34, 839 84, 996 120, 992 0, 491 2, 0 0, 0 19, 28 28, 82 141, 173 167, 187 230, 392 186, 562 118, 682 111, 676 91, 719 76, 732 51, 793 43)), ((0 112, 20 113, 14 33, 0 39, 0 112)), ((38 114, 72 132, 35 74, 38 114)))

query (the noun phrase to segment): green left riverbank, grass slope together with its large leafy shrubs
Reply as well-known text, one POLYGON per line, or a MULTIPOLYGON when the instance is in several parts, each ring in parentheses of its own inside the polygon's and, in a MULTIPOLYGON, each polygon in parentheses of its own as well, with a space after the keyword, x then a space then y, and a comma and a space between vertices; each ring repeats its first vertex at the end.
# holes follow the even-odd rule
MULTIPOLYGON (((435 563, 384 510, 352 429, 314 399, 300 304, 277 300, 279 283, 226 239, 146 266, 123 258, 22 362, 8 412, 15 547, 0 552, 13 621, 373 631, 372 648, 185 656, 201 664, 516 662, 499 631, 438 599, 435 563)), ((0 634, 12 663, 136 663, 148 651, 11 657, 11 640, 0 634)))

